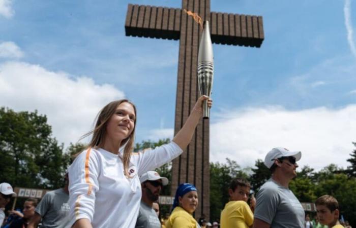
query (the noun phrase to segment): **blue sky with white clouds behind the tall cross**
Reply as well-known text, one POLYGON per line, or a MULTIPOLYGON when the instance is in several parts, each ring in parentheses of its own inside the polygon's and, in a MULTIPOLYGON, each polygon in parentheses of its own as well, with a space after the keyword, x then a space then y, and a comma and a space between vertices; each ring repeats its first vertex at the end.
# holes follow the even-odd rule
MULTIPOLYGON (((127 97, 138 108, 138 142, 172 137, 179 41, 125 36, 129 3, 181 8, 0 0, 0 104, 38 109, 68 144, 107 102, 127 97)), ((284 146, 305 151, 302 165, 347 166, 356 141, 356 3, 212 0, 211 11, 261 15, 265 34, 261 48, 213 47, 211 161, 251 166, 284 146)))

